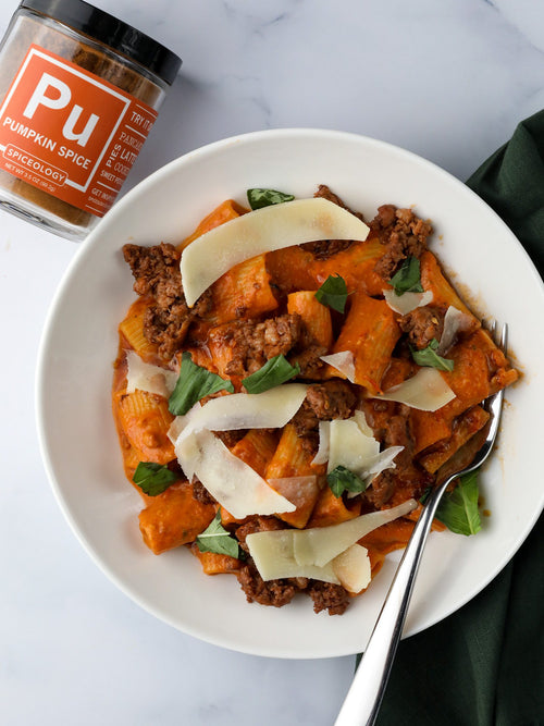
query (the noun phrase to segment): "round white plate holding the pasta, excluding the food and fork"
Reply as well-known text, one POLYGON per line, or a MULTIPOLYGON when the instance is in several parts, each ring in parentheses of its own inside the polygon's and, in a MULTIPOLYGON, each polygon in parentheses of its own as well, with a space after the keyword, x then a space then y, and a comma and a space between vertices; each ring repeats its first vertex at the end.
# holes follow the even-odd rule
POLYGON ((134 299, 121 247, 176 242, 227 197, 264 186, 311 196, 327 184, 372 217, 416 205, 435 227, 431 248, 480 313, 510 327, 523 372, 508 392, 499 451, 483 476, 490 517, 465 538, 431 534, 405 636, 473 598, 514 555, 543 507, 541 439, 544 293, 527 254, 478 196, 430 162, 361 136, 317 130, 248 134, 193 151, 145 180, 90 234, 61 285, 37 378, 38 428, 53 490, 95 562, 133 600, 172 626, 246 653, 325 657, 364 648, 385 596, 392 556, 342 617, 309 598, 283 608, 247 604, 234 577, 207 577, 185 549, 156 556, 143 544, 138 494, 126 482, 110 411, 116 325, 134 299))

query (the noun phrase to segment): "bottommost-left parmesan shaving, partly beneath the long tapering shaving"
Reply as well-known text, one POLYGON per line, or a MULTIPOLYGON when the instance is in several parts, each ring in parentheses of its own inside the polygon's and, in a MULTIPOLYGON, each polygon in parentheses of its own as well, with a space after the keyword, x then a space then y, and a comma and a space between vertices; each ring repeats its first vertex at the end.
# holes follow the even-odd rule
POLYGON ((301 565, 295 558, 293 536, 295 529, 254 532, 246 537, 249 554, 254 558, 259 575, 263 580, 276 580, 283 577, 309 577, 323 582, 339 585, 334 574, 333 564, 323 567, 312 564, 301 565))

